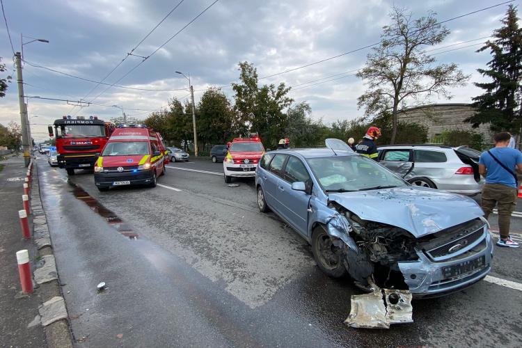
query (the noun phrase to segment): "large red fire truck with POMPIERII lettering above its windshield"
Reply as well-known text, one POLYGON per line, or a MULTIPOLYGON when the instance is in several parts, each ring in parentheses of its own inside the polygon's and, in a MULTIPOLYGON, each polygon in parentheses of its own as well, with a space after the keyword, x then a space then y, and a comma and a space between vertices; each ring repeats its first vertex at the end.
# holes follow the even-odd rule
POLYGON ((116 126, 112 122, 98 120, 96 116, 63 116, 55 120, 54 130, 49 126, 49 136, 56 134, 58 166, 65 168, 68 175, 74 175, 74 169, 93 171, 95 161, 114 129, 116 126))

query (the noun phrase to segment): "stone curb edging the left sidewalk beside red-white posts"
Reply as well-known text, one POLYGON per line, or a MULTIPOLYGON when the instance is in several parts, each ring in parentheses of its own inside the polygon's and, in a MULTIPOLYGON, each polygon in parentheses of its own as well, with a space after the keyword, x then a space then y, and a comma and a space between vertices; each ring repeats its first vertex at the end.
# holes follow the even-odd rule
POLYGON ((44 326, 48 347, 73 347, 67 307, 62 296, 53 255, 52 238, 40 197, 38 166, 34 159, 33 164, 31 212, 33 215, 33 242, 38 249, 38 259, 34 260, 33 278, 37 283, 38 295, 42 301, 38 308, 39 321, 44 326))

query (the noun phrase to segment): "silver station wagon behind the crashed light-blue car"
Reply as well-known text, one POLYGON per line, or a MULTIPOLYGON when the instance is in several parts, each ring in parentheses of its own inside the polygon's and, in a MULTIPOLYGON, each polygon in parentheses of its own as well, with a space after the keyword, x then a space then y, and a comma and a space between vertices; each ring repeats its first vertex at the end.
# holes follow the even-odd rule
POLYGON ((379 146, 379 161, 411 184, 466 196, 482 191, 478 172, 480 152, 466 146, 443 145, 379 146))

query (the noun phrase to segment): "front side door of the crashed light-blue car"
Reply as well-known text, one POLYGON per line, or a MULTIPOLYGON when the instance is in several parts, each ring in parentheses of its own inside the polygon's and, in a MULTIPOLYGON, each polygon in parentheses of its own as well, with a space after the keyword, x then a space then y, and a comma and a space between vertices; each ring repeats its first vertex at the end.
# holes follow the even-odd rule
MULTIPOLYGON (((280 204, 280 214, 301 235, 308 231, 308 205, 310 194, 292 189, 293 182, 304 182, 311 188, 310 173, 301 159, 289 156, 277 187, 276 198, 280 204)), ((308 191, 310 192, 310 191, 308 191)))

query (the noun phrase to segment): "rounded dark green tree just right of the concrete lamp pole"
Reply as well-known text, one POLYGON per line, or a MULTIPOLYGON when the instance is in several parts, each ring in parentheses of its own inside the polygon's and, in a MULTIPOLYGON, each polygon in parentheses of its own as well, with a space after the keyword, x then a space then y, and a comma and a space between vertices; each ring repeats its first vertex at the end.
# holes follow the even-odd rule
POLYGON ((203 93, 196 110, 198 146, 224 144, 234 136, 236 114, 230 100, 218 88, 209 88, 203 93))

